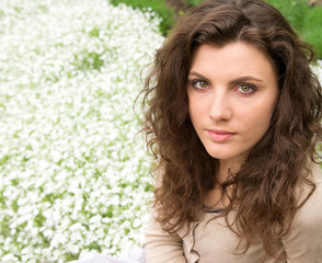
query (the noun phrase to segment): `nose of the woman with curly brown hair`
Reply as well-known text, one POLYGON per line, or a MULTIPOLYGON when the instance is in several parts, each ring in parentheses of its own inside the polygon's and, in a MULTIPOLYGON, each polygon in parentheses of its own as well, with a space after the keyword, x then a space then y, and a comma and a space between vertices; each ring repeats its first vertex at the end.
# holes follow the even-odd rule
POLYGON ((215 122, 227 122, 231 118, 232 108, 229 92, 216 90, 212 93, 209 116, 215 122))

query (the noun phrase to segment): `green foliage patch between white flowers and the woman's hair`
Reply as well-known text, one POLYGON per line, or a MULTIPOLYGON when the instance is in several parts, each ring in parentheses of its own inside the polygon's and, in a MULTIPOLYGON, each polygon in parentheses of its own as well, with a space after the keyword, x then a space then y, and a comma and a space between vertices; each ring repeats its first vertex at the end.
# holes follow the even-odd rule
POLYGON ((113 5, 125 3, 126 5, 138 8, 142 11, 152 9, 161 19, 160 32, 166 35, 175 22, 175 12, 165 4, 165 0, 111 0, 113 5))

